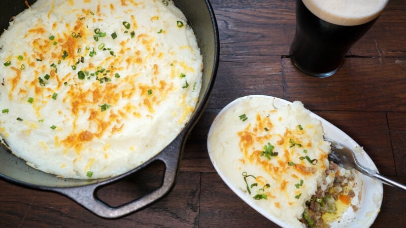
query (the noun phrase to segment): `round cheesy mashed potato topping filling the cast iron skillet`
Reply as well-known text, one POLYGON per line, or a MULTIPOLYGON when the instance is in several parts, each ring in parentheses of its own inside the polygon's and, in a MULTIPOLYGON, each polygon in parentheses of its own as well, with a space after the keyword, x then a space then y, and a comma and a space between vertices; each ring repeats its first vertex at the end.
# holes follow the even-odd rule
POLYGON ((202 57, 172 1, 39 0, 0 37, 0 139, 42 171, 103 178, 189 121, 202 57))

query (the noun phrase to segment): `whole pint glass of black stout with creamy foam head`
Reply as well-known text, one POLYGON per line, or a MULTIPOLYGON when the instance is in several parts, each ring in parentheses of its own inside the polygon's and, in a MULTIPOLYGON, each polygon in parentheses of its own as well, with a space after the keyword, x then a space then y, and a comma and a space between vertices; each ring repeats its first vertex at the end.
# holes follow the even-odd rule
POLYGON ((293 64, 314 77, 334 74, 388 1, 296 0, 296 32, 290 47, 293 64))

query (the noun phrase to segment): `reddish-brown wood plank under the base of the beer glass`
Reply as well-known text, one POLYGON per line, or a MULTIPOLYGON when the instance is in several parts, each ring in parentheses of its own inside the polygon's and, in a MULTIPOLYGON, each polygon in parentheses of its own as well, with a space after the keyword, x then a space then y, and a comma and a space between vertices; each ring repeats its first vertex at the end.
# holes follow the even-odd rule
POLYGON ((324 79, 299 72, 284 58, 285 98, 313 110, 406 111, 405 58, 346 58, 324 79))

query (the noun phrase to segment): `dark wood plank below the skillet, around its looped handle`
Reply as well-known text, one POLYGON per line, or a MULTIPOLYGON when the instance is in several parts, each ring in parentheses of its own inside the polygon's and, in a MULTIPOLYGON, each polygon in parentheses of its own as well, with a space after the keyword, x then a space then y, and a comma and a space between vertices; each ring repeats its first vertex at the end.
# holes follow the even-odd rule
MULTIPOLYGON (((152 175, 152 174, 150 174, 152 175)), ((130 179, 131 180, 131 179, 130 179)), ((146 184, 146 182, 136 183, 146 184)), ((119 201, 137 191, 131 181, 109 187, 104 197, 119 201), (124 196, 127 195, 127 196, 124 196)), ((181 172, 168 196, 151 206, 121 219, 100 218, 72 200, 55 193, 36 191, 0 181, 0 226, 2 227, 197 227, 200 195, 200 173, 181 172), (6 199, 9 199, 6 204, 6 199)), ((103 195, 102 194, 102 195, 103 195)))

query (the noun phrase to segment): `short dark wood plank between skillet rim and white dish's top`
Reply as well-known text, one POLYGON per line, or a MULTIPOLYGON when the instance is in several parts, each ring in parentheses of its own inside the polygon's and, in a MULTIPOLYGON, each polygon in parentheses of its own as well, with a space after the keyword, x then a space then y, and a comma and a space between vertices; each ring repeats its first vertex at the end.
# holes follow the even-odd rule
POLYGON ((222 56, 220 60, 208 108, 223 108, 252 94, 283 95, 281 57, 222 56))

